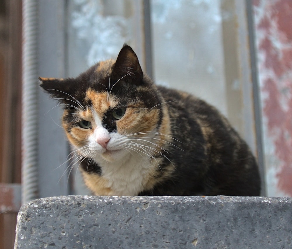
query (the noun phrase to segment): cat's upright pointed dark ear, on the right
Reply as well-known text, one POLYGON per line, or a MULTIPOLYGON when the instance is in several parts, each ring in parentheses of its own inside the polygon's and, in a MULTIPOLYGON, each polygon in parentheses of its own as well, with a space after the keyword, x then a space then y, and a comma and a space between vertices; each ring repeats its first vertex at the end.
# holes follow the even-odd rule
POLYGON ((112 74, 118 78, 117 80, 123 78, 137 86, 142 84, 143 72, 138 57, 130 46, 125 44, 121 49, 112 74))

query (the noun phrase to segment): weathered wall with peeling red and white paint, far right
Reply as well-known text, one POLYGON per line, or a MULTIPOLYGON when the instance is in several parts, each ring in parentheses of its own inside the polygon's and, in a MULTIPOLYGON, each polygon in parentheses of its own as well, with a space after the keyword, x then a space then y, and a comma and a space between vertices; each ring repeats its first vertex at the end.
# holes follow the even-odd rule
POLYGON ((254 0, 268 196, 292 196, 292 1, 254 0))

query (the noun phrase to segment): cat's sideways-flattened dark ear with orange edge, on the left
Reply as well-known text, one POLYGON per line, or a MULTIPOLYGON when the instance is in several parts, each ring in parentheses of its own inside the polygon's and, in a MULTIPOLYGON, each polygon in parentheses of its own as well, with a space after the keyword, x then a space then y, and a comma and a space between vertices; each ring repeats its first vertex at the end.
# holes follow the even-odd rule
POLYGON ((39 77, 39 85, 43 88, 51 97, 56 99, 66 99, 70 94, 68 91, 69 84, 64 79, 57 78, 42 78, 39 77))

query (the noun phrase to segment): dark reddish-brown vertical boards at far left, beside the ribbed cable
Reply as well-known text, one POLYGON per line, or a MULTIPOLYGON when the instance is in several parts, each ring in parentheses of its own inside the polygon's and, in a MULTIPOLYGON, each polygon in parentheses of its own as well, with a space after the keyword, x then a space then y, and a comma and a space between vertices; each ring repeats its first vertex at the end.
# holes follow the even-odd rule
MULTIPOLYGON (((21 1, 3 1, 4 29, 1 39, 1 182, 21 180, 21 1), (5 63, 5 65, 4 65, 5 63)), ((3 10, 2 10, 3 11, 3 10)), ((3 31, 3 30, 1 30, 3 31)), ((13 248, 17 213, 0 214, 0 248, 13 248)))

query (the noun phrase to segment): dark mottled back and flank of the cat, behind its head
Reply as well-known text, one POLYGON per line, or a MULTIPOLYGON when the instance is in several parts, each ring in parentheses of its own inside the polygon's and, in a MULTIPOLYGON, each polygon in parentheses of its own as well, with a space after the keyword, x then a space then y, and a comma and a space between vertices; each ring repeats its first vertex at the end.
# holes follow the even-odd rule
MULTIPOLYGON (((204 179, 205 195, 258 196, 256 159, 225 116, 189 93, 163 86, 158 90, 168 108, 173 144, 183 150, 169 155, 178 172, 186 173, 180 179, 204 179)), ((189 189, 185 194, 194 193, 189 189)))

